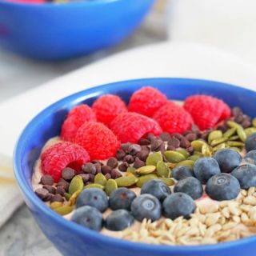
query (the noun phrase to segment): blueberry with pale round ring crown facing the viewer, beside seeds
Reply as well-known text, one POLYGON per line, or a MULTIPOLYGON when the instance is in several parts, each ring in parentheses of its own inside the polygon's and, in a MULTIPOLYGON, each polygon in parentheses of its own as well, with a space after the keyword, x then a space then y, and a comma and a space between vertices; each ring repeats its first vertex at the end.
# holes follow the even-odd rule
POLYGON ((150 219, 152 222, 161 217, 161 203, 152 194, 141 194, 131 203, 131 213, 139 222, 143 218, 150 219))

